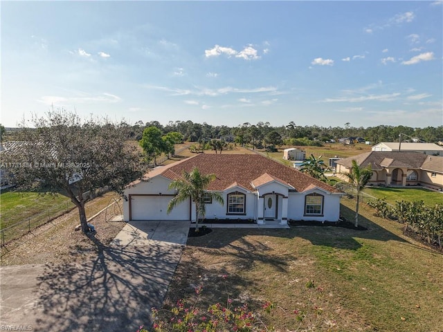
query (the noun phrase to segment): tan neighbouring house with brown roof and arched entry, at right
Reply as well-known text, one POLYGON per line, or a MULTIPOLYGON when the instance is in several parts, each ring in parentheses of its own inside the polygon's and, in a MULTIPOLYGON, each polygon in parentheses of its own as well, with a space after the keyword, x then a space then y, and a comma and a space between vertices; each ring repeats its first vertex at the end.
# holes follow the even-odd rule
POLYGON ((371 165, 369 185, 423 185, 443 190, 443 156, 428 156, 421 152, 371 151, 337 160, 337 176, 350 172, 352 160, 356 160, 361 167, 371 165))

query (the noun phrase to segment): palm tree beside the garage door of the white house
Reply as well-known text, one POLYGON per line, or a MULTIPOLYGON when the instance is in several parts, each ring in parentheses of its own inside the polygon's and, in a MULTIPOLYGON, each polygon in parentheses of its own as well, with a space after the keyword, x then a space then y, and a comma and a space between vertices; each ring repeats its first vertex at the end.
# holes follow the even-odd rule
POLYGON ((168 213, 177 205, 191 199, 195 203, 196 221, 195 229, 199 229, 199 216, 204 218, 206 214, 205 199, 224 204, 223 196, 219 192, 208 192, 206 188, 215 180, 215 174, 201 174, 197 167, 191 172, 183 172, 183 176, 170 183, 169 188, 177 190, 177 195, 168 204, 168 213))

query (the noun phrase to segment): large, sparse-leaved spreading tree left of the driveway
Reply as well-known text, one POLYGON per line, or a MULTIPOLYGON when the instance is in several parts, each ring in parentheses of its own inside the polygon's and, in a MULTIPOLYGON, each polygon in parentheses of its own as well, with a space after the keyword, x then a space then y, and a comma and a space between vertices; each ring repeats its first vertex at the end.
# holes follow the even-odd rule
POLYGON ((2 156, 17 190, 59 192, 78 208, 83 232, 89 230, 87 192, 100 187, 123 194, 125 185, 143 175, 141 154, 127 142, 127 126, 75 113, 50 111, 22 126, 19 147, 2 156))

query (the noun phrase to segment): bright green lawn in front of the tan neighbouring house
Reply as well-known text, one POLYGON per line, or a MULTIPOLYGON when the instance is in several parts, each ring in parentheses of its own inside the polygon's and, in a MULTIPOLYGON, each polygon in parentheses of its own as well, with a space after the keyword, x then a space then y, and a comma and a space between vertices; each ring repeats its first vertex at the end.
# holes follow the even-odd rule
POLYGON ((424 201, 425 205, 429 206, 443 203, 441 192, 424 188, 365 187, 363 192, 377 199, 386 199, 386 202, 392 205, 395 205, 395 201, 424 201))

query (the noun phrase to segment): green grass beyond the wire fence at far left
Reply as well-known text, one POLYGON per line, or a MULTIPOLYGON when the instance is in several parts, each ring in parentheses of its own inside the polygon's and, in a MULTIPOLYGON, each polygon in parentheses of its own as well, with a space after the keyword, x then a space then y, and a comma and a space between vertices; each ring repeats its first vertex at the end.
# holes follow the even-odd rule
POLYGON ((0 201, 1 229, 37 215, 48 219, 48 216, 60 214, 74 206, 69 198, 61 194, 37 192, 2 191, 0 201))

